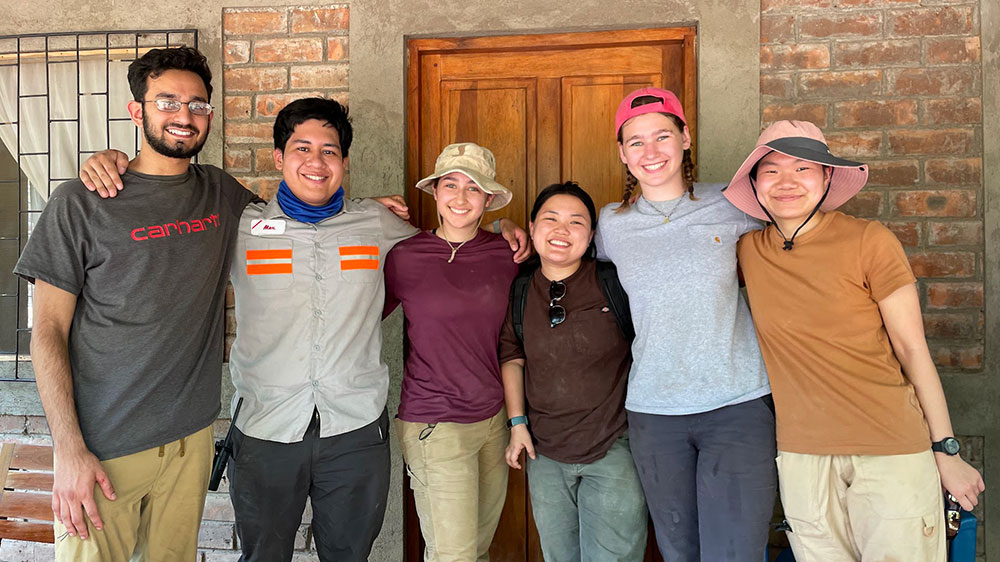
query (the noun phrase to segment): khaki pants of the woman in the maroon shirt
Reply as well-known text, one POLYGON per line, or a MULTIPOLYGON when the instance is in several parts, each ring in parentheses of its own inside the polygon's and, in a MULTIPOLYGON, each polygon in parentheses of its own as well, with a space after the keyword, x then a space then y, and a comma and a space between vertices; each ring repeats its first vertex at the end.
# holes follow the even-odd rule
POLYGON ((424 562, 488 562, 507 496, 503 408, 476 423, 396 420, 427 548, 424 562))

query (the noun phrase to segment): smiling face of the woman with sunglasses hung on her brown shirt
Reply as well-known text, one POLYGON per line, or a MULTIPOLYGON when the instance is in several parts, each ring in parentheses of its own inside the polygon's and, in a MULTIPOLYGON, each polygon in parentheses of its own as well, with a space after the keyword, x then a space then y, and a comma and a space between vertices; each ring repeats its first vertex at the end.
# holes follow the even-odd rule
POLYGON ((549 197, 528 228, 543 265, 558 268, 579 264, 594 238, 586 205, 564 193, 549 197))

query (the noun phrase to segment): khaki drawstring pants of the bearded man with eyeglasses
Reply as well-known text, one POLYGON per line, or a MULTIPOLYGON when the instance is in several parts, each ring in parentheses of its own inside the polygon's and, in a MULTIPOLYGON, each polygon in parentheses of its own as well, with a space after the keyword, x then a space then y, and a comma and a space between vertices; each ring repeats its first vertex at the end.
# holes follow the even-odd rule
POLYGON ((89 537, 55 523, 58 562, 193 562, 212 469, 212 427, 162 447, 103 461, 117 499, 94 487, 104 530, 89 537), (162 450, 162 454, 161 454, 162 450))

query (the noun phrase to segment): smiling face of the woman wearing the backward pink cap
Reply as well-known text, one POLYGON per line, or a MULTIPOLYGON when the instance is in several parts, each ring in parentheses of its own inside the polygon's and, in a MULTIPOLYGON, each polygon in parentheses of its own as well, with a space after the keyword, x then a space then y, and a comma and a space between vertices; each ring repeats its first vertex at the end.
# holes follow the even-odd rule
POLYGON ((622 125, 621 138, 619 156, 644 191, 684 192, 684 151, 691 148, 687 127, 678 128, 662 113, 645 113, 622 125))

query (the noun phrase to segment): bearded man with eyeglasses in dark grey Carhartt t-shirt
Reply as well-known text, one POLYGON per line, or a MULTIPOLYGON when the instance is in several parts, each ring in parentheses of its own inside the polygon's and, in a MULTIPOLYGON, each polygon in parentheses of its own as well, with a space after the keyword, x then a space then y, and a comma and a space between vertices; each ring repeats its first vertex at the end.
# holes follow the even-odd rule
POLYGON ((14 270, 35 284, 31 356, 52 434, 59 561, 196 557, 226 278, 255 198, 190 162, 212 121, 201 53, 153 49, 128 79, 143 130, 128 189, 102 200, 81 181, 61 185, 14 270))

